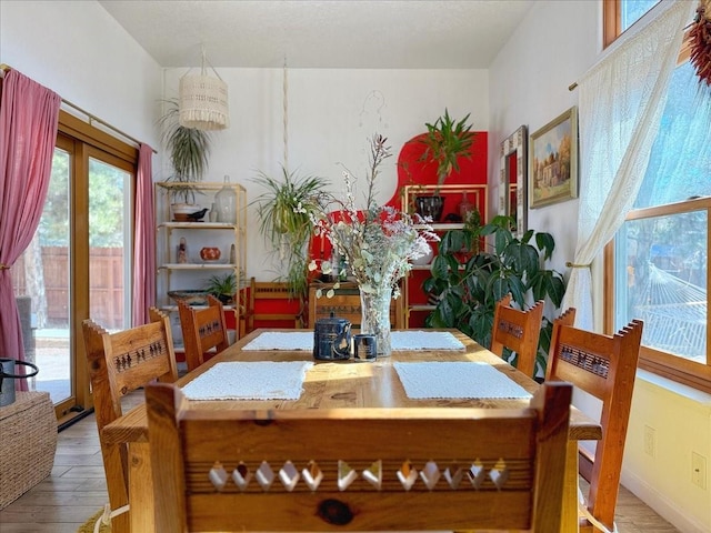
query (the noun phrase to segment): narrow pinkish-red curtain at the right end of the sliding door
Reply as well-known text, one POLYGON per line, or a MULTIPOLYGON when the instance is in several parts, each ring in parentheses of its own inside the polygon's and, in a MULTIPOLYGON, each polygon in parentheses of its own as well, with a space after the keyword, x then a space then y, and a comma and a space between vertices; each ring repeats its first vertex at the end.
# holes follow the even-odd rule
POLYGON ((156 304, 156 217, 153 214, 153 149, 141 144, 136 180, 133 235, 133 325, 150 322, 148 309, 156 304))

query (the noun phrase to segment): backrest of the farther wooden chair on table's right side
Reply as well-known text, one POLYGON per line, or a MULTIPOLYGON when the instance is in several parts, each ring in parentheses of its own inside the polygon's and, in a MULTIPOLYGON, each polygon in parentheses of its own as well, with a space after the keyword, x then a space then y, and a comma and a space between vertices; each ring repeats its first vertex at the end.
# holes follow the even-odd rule
POLYGON ((508 348, 517 353, 517 369, 529 378, 535 375, 535 354, 538 339, 543 321, 543 300, 535 302, 531 309, 519 311, 511 306, 511 294, 497 302, 491 331, 491 351, 499 356, 508 348))

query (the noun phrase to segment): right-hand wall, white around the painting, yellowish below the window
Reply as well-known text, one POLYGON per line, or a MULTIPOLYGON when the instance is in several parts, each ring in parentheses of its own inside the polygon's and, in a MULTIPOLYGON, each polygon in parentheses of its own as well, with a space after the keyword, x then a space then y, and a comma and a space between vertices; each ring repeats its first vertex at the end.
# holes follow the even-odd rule
MULTIPOLYGON (((529 133, 578 103, 568 87, 591 68, 601 51, 601 2, 540 0, 497 57, 490 77, 491 180, 501 168, 499 147, 521 124, 529 133)), ((495 205, 495 203, 492 203, 495 205)), ((529 210, 529 228, 555 239, 552 266, 568 278, 565 261, 575 250, 578 200, 529 210)), ((600 272, 593 271, 602 306, 600 272)), ((622 483, 685 533, 711 531, 711 480, 707 489, 691 483, 691 452, 711 459, 711 395, 690 392, 643 371, 638 372, 624 452, 622 483), (655 430, 655 455, 644 452, 644 426, 655 430)), ((595 416, 593 402, 575 404, 595 416)), ((599 411, 598 411, 599 414, 599 411)), ((708 470, 708 467, 707 467, 708 470)))

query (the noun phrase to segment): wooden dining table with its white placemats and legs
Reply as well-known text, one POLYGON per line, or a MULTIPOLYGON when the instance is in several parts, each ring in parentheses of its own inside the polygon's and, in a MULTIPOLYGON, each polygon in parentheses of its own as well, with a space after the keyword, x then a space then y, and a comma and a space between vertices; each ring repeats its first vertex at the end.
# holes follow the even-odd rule
MULTIPOLYGON (((287 365, 273 368, 282 366, 287 365)), ((206 410, 520 409, 529 404, 531 394, 540 386, 462 332, 445 329, 393 330, 391 355, 365 362, 353 358, 314 360, 312 330, 258 329, 184 374, 177 384, 188 396, 191 408, 206 410), (252 363, 284 362, 302 363, 299 381, 286 383, 293 378, 293 372, 289 376, 280 376, 270 371, 266 376, 267 381, 283 380, 283 384, 261 383, 260 379, 264 376, 254 378, 250 374, 247 378, 239 373, 240 368, 247 371, 252 363), (241 363, 242 366, 234 363, 241 363), (462 366, 461 363, 478 364, 462 366), (448 375, 448 369, 455 375, 448 375), (470 379, 462 370, 477 372, 470 379), (418 375, 415 371, 423 374, 418 375), (478 372, 482 372, 480 378, 477 378, 478 372), (278 392, 262 398, 262 391, 278 392)), ((598 421, 575 408, 571 409, 561 532, 579 531, 578 443, 600 440, 601 436, 602 429, 598 421)), ((154 531, 146 404, 137 405, 107 425, 103 439, 111 443, 127 443, 129 447, 130 531, 154 531)))

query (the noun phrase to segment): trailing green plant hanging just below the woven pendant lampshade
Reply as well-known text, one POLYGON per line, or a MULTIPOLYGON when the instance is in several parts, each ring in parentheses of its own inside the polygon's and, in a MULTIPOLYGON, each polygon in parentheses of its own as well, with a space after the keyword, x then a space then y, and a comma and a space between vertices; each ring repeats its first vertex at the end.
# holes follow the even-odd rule
MULTIPOLYGON (((191 183, 202 181, 208 170, 212 138, 209 131, 180 125, 179 113, 178 100, 166 100, 166 113, 158 123, 173 168, 168 181, 179 183, 171 188, 173 198, 193 204, 196 190, 191 183)), ((194 211, 194 207, 189 209, 194 211)))

